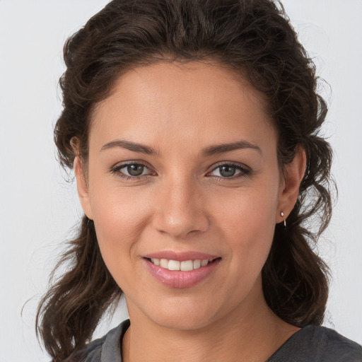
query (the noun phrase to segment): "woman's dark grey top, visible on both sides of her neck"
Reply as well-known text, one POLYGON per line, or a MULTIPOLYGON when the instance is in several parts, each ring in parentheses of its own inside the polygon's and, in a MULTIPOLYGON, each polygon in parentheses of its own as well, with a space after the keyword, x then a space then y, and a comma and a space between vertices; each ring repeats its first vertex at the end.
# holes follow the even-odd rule
MULTIPOLYGON (((74 361, 122 362, 122 339, 129 325, 125 320, 95 339, 74 361)), ((333 329, 309 325, 293 334, 267 362, 362 362, 362 346, 333 329)))

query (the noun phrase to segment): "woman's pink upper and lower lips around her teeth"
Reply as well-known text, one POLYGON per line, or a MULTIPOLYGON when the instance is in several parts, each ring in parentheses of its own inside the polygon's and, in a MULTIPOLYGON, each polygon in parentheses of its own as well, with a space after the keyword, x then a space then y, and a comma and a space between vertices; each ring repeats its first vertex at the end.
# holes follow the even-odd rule
MULTIPOLYGON (((168 257, 165 257, 165 253, 158 252, 152 254, 152 257, 158 259, 160 258, 159 255, 162 255, 165 259, 168 259, 168 257, 171 256, 168 255, 168 257)), ((151 275, 164 286, 168 286, 169 288, 191 288, 192 286, 196 286, 208 276, 210 276, 221 262, 221 257, 213 257, 209 255, 208 258, 205 256, 206 254, 202 253, 192 253, 192 255, 188 253, 182 253, 182 255, 180 255, 180 253, 177 253, 177 258, 170 258, 171 260, 178 260, 180 262, 190 259, 209 259, 210 257, 212 258, 212 262, 209 262, 209 264, 207 264, 205 267, 190 271, 176 271, 165 269, 163 267, 160 267, 159 265, 153 264, 151 260, 148 259, 151 258, 151 256, 144 257, 144 263, 146 264, 146 267, 151 275), (197 255, 197 257, 194 257, 193 255, 197 255)))

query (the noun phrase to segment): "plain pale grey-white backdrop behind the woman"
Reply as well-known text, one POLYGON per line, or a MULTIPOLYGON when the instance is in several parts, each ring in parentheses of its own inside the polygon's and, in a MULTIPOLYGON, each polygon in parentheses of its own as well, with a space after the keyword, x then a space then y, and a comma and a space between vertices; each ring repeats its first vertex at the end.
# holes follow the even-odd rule
MULTIPOLYGON (((106 2, 0 0, 0 362, 49 361, 35 337, 36 305, 82 214, 52 142, 62 47, 106 2)), ((324 134, 334 148, 339 201, 320 240, 333 276, 325 325, 361 344, 362 1, 283 2, 330 85, 320 91, 329 103, 324 134)), ((125 317, 121 305, 95 335, 125 317)))

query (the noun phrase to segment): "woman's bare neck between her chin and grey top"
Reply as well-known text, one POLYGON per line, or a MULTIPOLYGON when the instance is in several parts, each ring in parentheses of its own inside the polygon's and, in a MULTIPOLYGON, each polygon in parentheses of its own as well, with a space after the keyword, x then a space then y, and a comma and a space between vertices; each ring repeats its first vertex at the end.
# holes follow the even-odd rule
POLYGON ((192 330, 157 325, 131 308, 123 361, 266 361, 298 328, 274 315, 263 296, 249 304, 192 330))

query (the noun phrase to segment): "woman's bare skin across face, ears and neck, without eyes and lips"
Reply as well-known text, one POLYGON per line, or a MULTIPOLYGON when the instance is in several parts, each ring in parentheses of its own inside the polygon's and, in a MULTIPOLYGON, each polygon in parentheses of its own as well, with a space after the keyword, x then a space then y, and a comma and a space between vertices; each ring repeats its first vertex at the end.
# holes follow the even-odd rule
POLYGON ((88 164, 76 158, 76 179, 126 297, 124 361, 265 361, 298 331, 268 308, 261 271, 275 224, 296 203, 305 153, 281 173, 265 105, 218 64, 160 62, 122 75, 95 107, 88 164), (157 153, 110 144, 119 140, 157 153), (240 140, 257 148, 202 153, 240 140), (129 161, 147 166, 141 177, 121 177, 129 161), (225 164, 242 168, 223 177, 217 167, 225 164), (170 288, 145 267, 144 255, 160 250, 206 252, 221 262, 199 284, 170 288))

